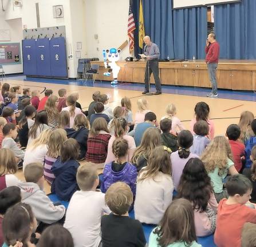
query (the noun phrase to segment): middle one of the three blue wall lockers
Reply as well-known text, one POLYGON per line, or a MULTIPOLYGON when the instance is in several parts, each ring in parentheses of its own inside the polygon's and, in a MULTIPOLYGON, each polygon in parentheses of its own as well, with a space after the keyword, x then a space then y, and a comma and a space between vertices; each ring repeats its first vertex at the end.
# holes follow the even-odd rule
POLYGON ((49 38, 37 39, 36 42, 37 75, 51 76, 49 38))

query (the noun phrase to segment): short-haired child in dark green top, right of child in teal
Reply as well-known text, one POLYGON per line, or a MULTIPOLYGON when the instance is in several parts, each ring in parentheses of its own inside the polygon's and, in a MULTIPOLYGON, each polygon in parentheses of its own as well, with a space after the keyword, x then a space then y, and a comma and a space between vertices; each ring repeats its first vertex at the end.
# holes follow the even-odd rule
POLYGON ((160 121, 160 129, 162 130, 161 134, 161 143, 162 145, 170 148, 172 152, 176 152, 178 147, 178 137, 172 134, 170 131, 172 129, 172 120, 164 118, 160 121))

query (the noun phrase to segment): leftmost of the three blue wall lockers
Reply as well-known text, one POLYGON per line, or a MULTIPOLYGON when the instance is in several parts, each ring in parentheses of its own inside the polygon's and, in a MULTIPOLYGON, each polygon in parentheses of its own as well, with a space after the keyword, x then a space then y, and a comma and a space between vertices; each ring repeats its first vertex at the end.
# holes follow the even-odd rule
POLYGON ((37 75, 36 39, 22 40, 23 74, 37 75))

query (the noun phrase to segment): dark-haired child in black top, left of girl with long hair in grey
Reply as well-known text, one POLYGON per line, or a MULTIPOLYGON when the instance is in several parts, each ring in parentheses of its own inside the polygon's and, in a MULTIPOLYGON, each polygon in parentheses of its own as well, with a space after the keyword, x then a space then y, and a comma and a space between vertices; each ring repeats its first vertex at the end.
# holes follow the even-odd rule
POLYGON ((26 148, 27 142, 29 141, 29 129, 34 124, 33 118, 36 117, 37 110, 34 106, 28 105, 24 109, 24 115, 19 121, 19 144, 23 148, 26 148))

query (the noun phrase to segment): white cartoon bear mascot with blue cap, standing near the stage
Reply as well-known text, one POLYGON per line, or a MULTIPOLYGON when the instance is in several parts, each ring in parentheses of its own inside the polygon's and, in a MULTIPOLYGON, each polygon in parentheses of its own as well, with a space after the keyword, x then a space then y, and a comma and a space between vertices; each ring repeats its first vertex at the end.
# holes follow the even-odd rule
POLYGON ((104 57, 104 65, 105 68, 109 68, 108 72, 105 72, 104 75, 110 76, 111 72, 113 73, 114 81, 111 84, 117 84, 117 76, 120 70, 120 67, 116 64, 119 61, 119 54, 121 50, 116 48, 111 48, 110 50, 103 50, 103 57, 104 57))

